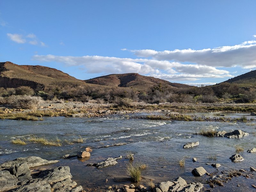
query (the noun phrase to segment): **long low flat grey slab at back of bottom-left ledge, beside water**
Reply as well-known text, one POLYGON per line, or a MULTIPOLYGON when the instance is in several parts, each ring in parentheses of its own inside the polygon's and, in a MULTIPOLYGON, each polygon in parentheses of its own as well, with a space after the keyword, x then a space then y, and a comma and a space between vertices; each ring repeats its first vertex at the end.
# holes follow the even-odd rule
POLYGON ((47 161, 46 159, 42 159, 36 156, 20 157, 15 160, 6 161, 0 164, 0 170, 9 169, 11 166, 15 166, 15 164, 19 164, 23 162, 26 162, 29 168, 33 168, 33 167, 39 167, 43 165, 58 163, 60 161, 58 160, 47 161))

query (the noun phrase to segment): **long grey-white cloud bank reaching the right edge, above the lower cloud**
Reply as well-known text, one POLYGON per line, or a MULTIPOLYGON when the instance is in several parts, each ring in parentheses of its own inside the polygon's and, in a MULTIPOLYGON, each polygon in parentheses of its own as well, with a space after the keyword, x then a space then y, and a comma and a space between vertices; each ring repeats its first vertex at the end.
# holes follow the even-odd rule
POLYGON ((256 67, 256 41, 245 41, 238 45, 222 46, 202 50, 131 50, 139 57, 152 57, 155 60, 190 62, 211 67, 256 67))

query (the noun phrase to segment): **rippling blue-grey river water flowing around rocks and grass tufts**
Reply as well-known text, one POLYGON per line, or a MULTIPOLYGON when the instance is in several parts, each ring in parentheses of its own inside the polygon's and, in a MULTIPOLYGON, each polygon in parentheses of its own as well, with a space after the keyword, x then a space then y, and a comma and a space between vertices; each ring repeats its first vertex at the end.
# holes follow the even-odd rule
MULTIPOLYGON (((142 175, 154 178, 154 182, 173 180, 181 176, 187 182, 205 184, 205 180, 209 179, 209 176, 194 177, 191 171, 199 166, 203 166, 207 172, 217 170, 206 163, 220 163, 218 174, 223 170, 249 170, 250 166, 256 167, 256 153, 246 152, 248 149, 256 147, 255 123, 161 121, 130 118, 141 115, 146 114, 115 115, 104 118, 44 117, 44 121, 0 120, 0 163, 25 156, 39 156, 47 160, 57 159, 65 154, 75 155, 77 151, 90 147, 93 149, 90 158, 60 159, 60 163, 48 166, 69 166, 73 180, 78 185, 82 185, 86 191, 105 191, 110 185, 121 187, 124 184, 130 184, 129 181, 120 183, 115 179, 126 176, 125 169, 129 160, 124 157, 117 160, 118 164, 103 169, 86 166, 86 164, 96 163, 108 157, 125 156, 128 152, 134 154, 134 162, 148 165, 142 171, 142 175), (227 132, 241 129, 248 132, 249 136, 228 139, 194 134, 200 132, 201 129, 225 130, 227 132), (27 145, 14 145, 10 142, 15 138, 28 139, 32 135, 44 136, 52 140, 58 138, 62 141, 62 146, 49 147, 31 142, 28 142, 27 145), (72 141, 79 136, 84 138, 83 143, 68 145, 65 142, 65 140, 72 141), (199 146, 182 148, 187 142, 195 141, 199 141, 199 146), (127 144, 100 148, 116 143, 127 144), (244 147, 244 152, 240 154, 245 160, 240 163, 232 163, 229 159, 236 153, 236 145, 244 147), (208 159, 209 155, 216 155, 217 160, 208 159), (178 161, 184 156, 186 156, 185 166, 180 168, 178 161), (198 161, 192 162, 192 157, 196 157, 198 161), (105 182, 106 179, 108 179, 108 183, 105 182)), ((211 113, 200 113, 199 115, 214 116, 211 113)), ((242 115, 244 114, 225 114, 230 117, 241 117, 242 115)), ((252 117, 246 115, 248 119, 252 117)), ((216 187, 211 190, 255 191, 251 187, 255 182, 255 175, 252 179, 239 177, 224 183, 224 187, 216 187), (236 187, 237 184, 240 187, 236 187)), ((143 181, 141 183, 145 184, 143 181)))

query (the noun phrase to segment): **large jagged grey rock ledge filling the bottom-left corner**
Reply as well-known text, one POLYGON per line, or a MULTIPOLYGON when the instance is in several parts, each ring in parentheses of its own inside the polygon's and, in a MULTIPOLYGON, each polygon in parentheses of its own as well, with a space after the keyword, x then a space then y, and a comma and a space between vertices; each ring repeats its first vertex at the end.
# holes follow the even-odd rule
MULTIPOLYGON (((59 166, 47 169, 31 175, 29 166, 35 167, 38 161, 33 164, 31 160, 40 160, 40 157, 17 158, 0 164, 0 192, 80 192, 82 186, 76 187, 72 181, 72 175, 68 166, 59 166), (25 162, 28 160, 28 162, 25 162)), ((44 163, 52 162, 45 159, 44 163)))

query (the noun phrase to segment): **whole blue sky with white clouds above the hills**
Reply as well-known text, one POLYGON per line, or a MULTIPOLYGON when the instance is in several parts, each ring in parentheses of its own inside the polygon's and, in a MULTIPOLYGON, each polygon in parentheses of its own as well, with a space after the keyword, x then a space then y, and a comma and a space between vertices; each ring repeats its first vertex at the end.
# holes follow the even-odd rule
POLYGON ((0 62, 211 85, 256 69, 255 0, 0 0, 0 62))

